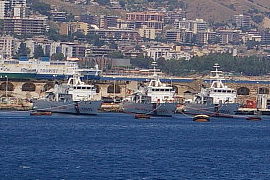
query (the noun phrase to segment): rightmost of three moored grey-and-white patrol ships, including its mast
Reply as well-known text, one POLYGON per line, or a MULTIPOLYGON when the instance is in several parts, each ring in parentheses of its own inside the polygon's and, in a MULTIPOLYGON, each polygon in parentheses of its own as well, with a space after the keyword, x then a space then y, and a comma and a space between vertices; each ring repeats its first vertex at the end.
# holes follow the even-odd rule
POLYGON ((184 113, 193 115, 210 115, 218 117, 233 117, 239 108, 236 103, 236 91, 223 84, 224 77, 219 71, 218 64, 214 65, 215 71, 211 71, 211 87, 201 88, 192 102, 186 102, 184 113))

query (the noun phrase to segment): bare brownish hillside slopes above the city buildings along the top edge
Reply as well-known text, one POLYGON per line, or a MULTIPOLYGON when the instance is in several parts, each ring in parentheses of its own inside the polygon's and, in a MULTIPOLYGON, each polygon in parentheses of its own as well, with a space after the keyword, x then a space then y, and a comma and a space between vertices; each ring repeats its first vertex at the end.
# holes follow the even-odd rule
MULTIPOLYGON (((74 15, 92 14, 121 14, 106 6, 75 5, 62 0, 39 0, 60 7, 74 15)), ((203 18, 210 22, 224 22, 234 14, 245 12, 270 12, 270 0, 120 0, 130 10, 144 10, 147 7, 182 7, 186 8, 188 18, 203 18)))

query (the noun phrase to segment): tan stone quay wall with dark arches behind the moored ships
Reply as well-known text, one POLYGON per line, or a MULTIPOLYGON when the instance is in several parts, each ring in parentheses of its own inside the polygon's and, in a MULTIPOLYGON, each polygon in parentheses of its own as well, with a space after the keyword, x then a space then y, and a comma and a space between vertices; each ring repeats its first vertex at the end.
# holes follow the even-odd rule
MULTIPOLYGON (((41 98, 45 92, 52 88, 55 83, 63 83, 64 81, 36 81, 36 80, 0 80, 0 97, 15 97, 20 99, 41 98)), ((97 99, 101 97, 107 98, 124 98, 131 95, 138 86, 146 85, 144 81, 89 81, 86 83, 94 84, 97 89, 97 99), (114 93, 115 89, 115 93, 114 93)), ((190 82, 171 82, 176 89, 176 96, 179 100, 183 100, 188 96, 200 91, 202 86, 210 86, 203 80, 193 80, 190 82)), ((247 100, 256 101, 258 92, 261 94, 269 94, 270 83, 226 83, 227 86, 237 90, 237 101, 245 104, 247 100)))

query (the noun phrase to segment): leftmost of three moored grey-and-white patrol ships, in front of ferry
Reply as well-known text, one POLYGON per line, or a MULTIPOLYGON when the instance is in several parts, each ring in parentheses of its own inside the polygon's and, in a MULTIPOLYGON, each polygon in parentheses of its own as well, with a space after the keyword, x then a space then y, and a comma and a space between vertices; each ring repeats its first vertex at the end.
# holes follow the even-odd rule
POLYGON ((96 115, 101 106, 94 100, 96 88, 81 81, 78 74, 67 84, 58 85, 46 92, 43 99, 33 101, 33 109, 42 112, 96 115))

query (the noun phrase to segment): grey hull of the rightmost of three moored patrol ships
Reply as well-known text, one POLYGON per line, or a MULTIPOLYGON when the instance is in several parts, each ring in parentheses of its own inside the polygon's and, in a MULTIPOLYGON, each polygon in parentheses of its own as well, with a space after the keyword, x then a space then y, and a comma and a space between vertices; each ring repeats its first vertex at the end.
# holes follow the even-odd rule
POLYGON ((184 113, 199 115, 205 114, 210 116, 220 116, 220 117, 233 117, 239 108, 237 103, 227 103, 227 104, 195 104, 187 103, 184 107, 184 113))

